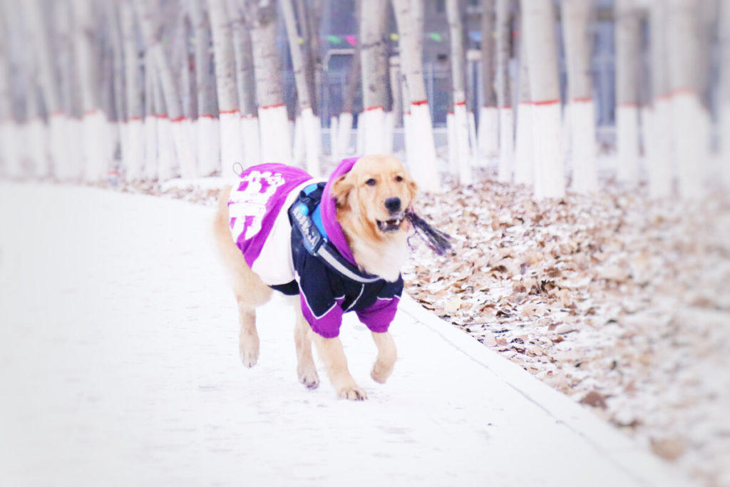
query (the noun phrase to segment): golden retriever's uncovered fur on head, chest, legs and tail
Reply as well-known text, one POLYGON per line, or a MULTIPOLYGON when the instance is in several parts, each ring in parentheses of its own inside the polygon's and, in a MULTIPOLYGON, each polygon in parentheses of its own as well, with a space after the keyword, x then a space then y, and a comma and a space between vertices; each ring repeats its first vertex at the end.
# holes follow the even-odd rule
MULTIPOLYGON (((220 193, 214 234, 220 255, 231 273, 238 302, 241 359, 246 367, 253 367, 258 360, 255 310, 269 301, 272 289, 251 271, 231 239, 227 204, 230 191, 228 187, 220 193)), ((404 211, 411 207, 416 191, 410 175, 393 156, 364 156, 350 172, 334 181, 331 194, 337 200, 337 221, 358 266, 365 272, 391 282, 398 279, 399 269, 407 258, 409 226, 404 219, 404 211), (399 199, 398 210, 395 199, 399 199), (389 207, 386 207, 386 201, 389 207)), ((296 302, 294 307, 297 310, 294 341, 300 382, 308 388, 319 385, 312 357, 313 341, 338 396, 366 399, 365 391, 355 383, 347 369, 347 358, 339 337, 323 338, 312 332, 301 313, 299 297, 293 296, 292 302, 296 302)), ((384 383, 393 372, 396 345, 388 332, 372 333, 372 338, 377 346, 377 358, 371 376, 384 383)))

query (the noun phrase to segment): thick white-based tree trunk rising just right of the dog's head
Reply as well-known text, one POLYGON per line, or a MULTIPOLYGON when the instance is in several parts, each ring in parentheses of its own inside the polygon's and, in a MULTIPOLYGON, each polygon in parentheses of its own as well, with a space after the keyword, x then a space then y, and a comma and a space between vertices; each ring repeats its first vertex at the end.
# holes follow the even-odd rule
POLYGON ((393 9, 398 23, 401 72, 404 75, 403 97, 409 103, 408 107, 404 107, 406 160, 423 191, 439 191, 441 182, 434 129, 423 80, 423 2, 393 0, 393 9))

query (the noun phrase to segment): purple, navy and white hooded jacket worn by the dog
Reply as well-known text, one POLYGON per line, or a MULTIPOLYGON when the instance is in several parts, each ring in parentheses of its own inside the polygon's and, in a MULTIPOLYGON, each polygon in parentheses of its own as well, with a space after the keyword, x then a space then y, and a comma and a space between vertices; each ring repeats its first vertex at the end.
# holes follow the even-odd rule
MULTIPOLYGON (((348 158, 337 166, 320 202, 326 239, 353 265, 355 258, 337 223, 337 208, 330 187, 356 161, 357 158, 348 158)), ((296 289, 293 294, 299 294, 304 318, 321 336, 337 337, 342 315, 348 311, 355 311, 371 331, 388 331, 403 288, 400 277, 395 283, 383 279, 356 282, 331 269, 318 256, 307 253, 301 248, 301 239, 294 239, 297 248, 292 248, 288 209, 303 188, 317 182, 302 169, 285 164, 261 164, 246 169, 228 199, 234 242, 246 264, 264 283, 286 294, 291 293, 285 289, 296 289)))

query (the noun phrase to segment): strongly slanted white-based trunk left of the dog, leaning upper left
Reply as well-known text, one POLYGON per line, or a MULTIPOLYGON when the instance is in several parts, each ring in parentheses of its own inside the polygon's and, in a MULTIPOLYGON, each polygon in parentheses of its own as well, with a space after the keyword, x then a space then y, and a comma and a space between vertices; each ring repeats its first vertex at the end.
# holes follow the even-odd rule
MULTIPOLYGON (((183 177, 194 177, 196 175, 196 168, 193 147, 189 137, 185 137, 185 126, 183 124, 185 117, 183 117, 183 106, 180 102, 180 91, 175 84, 169 58, 161 43, 161 29, 159 28, 158 20, 155 19, 154 12, 150 12, 145 0, 134 0, 134 8, 137 12, 142 39, 145 41, 147 51, 152 55, 155 72, 158 74, 158 81, 161 85, 162 96, 164 96, 170 125, 169 131, 174 144, 174 152, 177 153, 177 160, 180 162, 180 174, 183 177)), ((161 124, 158 123, 158 134, 160 131, 162 131, 162 134, 165 134, 166 126, 167 122, 164 120, 161 124)), ((165 139, 166 137, 163 137, 163 140, 165 139)), ((158 150, 161 149, 164 149, 164 147, 158 147, 158 150)), ((172 174, 166 174, 164 164, 161 164, 160 167, 161 172, 159 177, 172 177, 172 174)))

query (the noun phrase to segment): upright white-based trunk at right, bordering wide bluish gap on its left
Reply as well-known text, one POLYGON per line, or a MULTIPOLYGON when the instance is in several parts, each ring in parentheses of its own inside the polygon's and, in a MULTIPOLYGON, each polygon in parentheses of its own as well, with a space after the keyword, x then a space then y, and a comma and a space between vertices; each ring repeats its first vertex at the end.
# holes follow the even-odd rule
POLYGON ((616 154, 619 181, 639 179, 639 55, 641 21, 635 0, 614 4, 616 46, 616 154))

